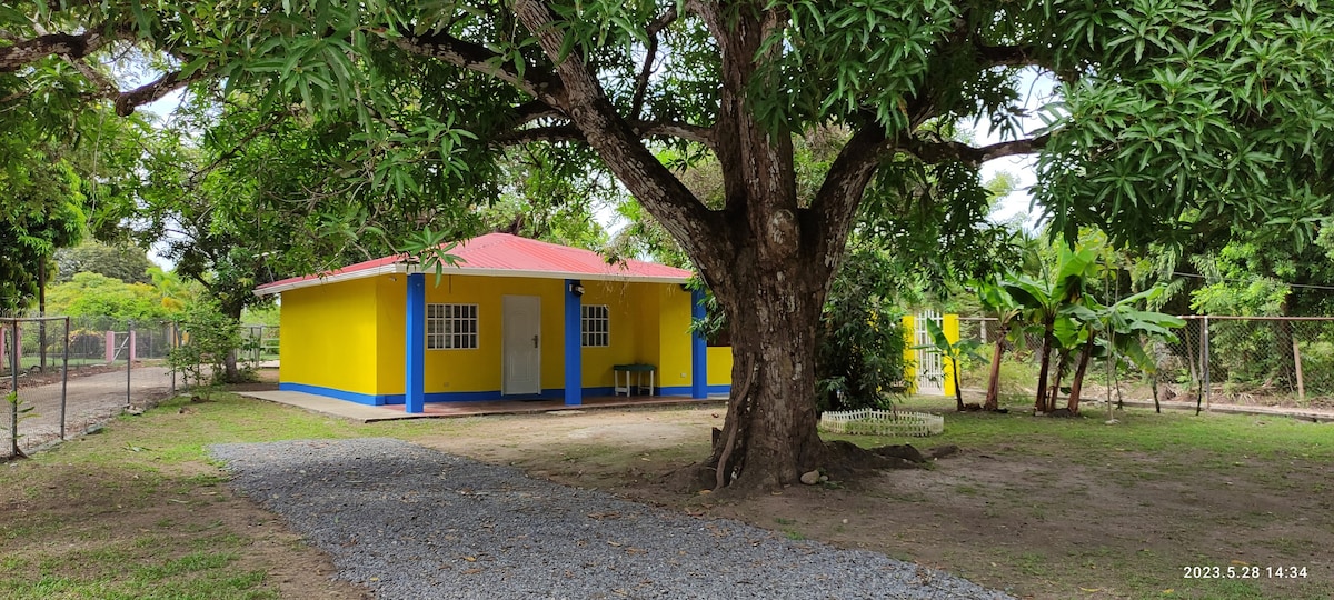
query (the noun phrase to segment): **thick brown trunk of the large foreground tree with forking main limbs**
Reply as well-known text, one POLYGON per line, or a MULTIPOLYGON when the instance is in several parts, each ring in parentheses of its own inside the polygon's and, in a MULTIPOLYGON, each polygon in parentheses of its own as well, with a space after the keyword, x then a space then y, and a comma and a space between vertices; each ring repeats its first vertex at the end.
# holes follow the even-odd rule
POLYGON ((514 3, 559 79, 532 92, 578 125, 607 168, 682 244, 731 319, 734 391, 714 448, 718 483, 772 488, 796 481, 826 456, 815 432, 815 329, 856 205, 892 141, 874 123, 855 129, 815 196, 799 200, 791 135, 760 123, 751 107, 758 65, 783 51, 764 47, 782 20, 762 3, 698 3, 690 9, 716 40, 720 57, 718 113, 706 140, 723 172, 720 209, 706 207, 643 144, 594 69, 570 56, 551 9, 538 0, 514 3))

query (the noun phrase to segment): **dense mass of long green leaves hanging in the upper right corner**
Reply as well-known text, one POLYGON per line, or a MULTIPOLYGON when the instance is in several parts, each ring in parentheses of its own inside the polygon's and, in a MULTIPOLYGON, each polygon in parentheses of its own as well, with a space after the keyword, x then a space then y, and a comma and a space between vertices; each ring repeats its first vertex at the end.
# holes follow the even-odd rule
MULTIPOLYGON (((1334 164, 1334 21, 1321 3, 1137 1, 1087 29, 1095 71, 1062 87, 1037 191, 1069 235, 1193 225, 1314 235, 1334 164)), ((1074 33, 1074 32, 1071 32, 1074 33)))

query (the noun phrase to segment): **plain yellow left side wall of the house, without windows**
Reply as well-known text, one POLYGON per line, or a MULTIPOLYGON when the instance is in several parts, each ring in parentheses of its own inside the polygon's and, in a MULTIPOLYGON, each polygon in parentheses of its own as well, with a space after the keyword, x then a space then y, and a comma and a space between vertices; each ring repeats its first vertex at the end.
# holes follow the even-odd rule
POLYGON ((375 288, 374 279, 359 279, 283 292, 279 379, 380 393, 372 368, 378 343, 375 288))

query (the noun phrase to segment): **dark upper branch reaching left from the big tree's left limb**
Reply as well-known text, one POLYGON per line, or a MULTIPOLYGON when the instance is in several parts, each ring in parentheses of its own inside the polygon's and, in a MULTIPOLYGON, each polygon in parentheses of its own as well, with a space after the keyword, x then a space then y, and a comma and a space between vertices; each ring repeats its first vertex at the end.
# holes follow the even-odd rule
POLYGON ((394 43, 406 52, 428 56, 499 79, 548 105, 560 104, 562 85, 554 73, 527 65, 520 75, 504 56, 482 44, 460 40, 447 33, 406 36, 394 40, 394 43))

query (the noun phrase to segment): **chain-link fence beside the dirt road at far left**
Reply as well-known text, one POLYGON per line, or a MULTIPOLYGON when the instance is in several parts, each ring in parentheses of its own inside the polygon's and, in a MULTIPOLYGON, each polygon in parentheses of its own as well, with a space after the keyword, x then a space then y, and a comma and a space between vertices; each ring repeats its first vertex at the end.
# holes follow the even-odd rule
POLYGON ((8 399, 0 459, 87 432, 169 397, 175 325, 108 319, 0 319, 0 383, 8 399))

